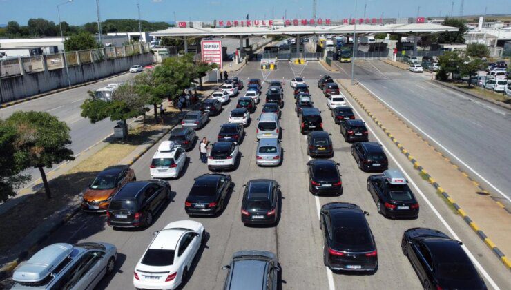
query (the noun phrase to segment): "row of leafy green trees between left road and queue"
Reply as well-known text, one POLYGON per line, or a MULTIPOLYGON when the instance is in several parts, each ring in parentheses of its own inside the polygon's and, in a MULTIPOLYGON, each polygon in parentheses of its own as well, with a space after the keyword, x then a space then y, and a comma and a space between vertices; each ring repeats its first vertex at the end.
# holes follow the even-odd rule
POLYGON ((190 88, 194 79, 199 79, 202 86, 201 78, 215 67, 215 64, 194 61, 191 53, 183 57, 169 57, 161 66, 137 75, 133 84, 119 86, 112 101, 96 99, 90 91, 90 99, 81 105, 81 116, 90 119, 91 123, 110 118, 122 121, 126 126, 128 119, 144 115, 148 106, 153 106, 155 122, 158 122, 157 106, 164 99, 174 99, 184 89, 190 88))

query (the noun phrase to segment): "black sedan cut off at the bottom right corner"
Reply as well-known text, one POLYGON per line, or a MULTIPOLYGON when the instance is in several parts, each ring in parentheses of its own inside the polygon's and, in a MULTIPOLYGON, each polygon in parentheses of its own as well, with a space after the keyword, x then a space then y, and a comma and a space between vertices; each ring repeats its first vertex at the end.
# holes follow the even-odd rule
POLYGON ((401 240, 403 254, 424 289, 487 289, 461 242, 434 229, 408 229, 401 240))

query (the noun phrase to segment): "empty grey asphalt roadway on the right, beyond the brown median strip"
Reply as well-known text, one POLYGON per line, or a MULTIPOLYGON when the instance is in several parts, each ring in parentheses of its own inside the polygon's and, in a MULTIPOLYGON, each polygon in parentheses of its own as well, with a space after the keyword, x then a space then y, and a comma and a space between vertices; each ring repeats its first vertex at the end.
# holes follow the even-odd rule
MULTIPOLYGON (((351 73, 351 64, 337 64, 344 76, 351 73)), ((438 86, 430 74, 414 74, 382 61, 356 62, 354 71, 361 84, 445 147, 447 155, 459 157, 465 165, 452 160, 485 189, 511 198, 509 110, 438 86)))

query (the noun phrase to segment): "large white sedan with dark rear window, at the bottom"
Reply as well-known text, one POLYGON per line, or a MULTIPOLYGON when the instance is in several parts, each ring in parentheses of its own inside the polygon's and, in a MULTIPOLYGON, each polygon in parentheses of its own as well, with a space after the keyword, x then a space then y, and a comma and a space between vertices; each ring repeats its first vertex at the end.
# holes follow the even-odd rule
POLYGON ((133 271, 133 286, 176 289, 189 278, 195 255, 206 241, 206 230, 200 222, 180 220, 154 235, 133 271))

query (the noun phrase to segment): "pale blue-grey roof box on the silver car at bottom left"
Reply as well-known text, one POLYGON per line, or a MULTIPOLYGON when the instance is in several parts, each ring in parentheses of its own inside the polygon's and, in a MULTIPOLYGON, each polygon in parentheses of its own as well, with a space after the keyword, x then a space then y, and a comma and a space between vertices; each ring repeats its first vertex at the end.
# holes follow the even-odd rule
POLYGON ((59 243, 44 247, 16 269, 12 280, 21 283, 40 282, 48 277, 53 269, 70 255, 71 251, 73 251, 71 244, 59 243))

